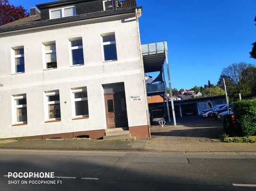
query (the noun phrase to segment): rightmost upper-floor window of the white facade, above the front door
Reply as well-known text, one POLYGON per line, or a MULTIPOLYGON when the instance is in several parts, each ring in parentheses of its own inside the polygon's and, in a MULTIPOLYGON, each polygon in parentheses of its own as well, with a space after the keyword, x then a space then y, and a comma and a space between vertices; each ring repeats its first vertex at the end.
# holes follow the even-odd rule
POLYGON ((117 60, 115 34, 102 36, 102 44, 103 44, 103 59, 104 59, 104 61, 117 60))

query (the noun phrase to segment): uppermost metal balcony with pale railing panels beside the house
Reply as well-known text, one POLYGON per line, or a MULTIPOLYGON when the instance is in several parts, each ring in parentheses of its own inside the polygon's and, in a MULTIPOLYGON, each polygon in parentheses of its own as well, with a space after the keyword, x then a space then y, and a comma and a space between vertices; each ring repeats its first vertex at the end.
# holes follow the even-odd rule
POLYGON ((161 71, 165 62, 165 51, 167 51, 167 42, 156 42, 141 45, 144 70, 148 72, 161 71))

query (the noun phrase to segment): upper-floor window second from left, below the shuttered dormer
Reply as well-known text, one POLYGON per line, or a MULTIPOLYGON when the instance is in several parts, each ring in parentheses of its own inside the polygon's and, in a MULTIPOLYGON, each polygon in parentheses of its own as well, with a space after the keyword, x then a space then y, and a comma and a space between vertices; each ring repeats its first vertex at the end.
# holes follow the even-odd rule
POLYGON ((47 43, 45 46, 45 69, 57 68, 56 44, 47 43))

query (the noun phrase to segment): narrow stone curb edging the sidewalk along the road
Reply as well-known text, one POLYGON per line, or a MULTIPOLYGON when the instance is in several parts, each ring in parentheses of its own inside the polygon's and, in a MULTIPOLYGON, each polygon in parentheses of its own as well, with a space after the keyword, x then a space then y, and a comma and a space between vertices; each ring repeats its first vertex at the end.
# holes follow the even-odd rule
POLYGON ((139 152, 139 153, 169 153, 169 154, 256 154, 256 151, 161 151, 138 148, 55 148, 55 147, 0 147, 1 150, 34 150, 34 151, 87 151, 87 152, 139 152))

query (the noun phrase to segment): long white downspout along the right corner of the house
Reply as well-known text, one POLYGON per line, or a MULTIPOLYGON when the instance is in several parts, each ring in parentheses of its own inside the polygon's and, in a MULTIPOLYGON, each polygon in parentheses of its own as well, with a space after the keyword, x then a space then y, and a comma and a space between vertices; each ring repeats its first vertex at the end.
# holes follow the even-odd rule
POLYGON ((146 88, 146 82, 145 82, 145 70, 144 70, 144 63, 143 63, 143 55, 141 50, 141 42, 140 42, 140 25, 139 25, 139 17, 138 17, 138 9, 136 8, 136 21, 137 21, 137 31, 138 31, 138 42, 139 42, 139 50, 140 50, 140 67, 141 67, 141 76, 142 76, 142 82, 143 82, 143 91, 144 91, 144 102, 146 105, 146 114, 147 114, 147 121, 148 121, 148 128, 149 128, 149 137, 151 138, 150 134, 150 119, 149 119, 149 104, 148 104, 148 95, 147 95, 147 88, 146 88))

